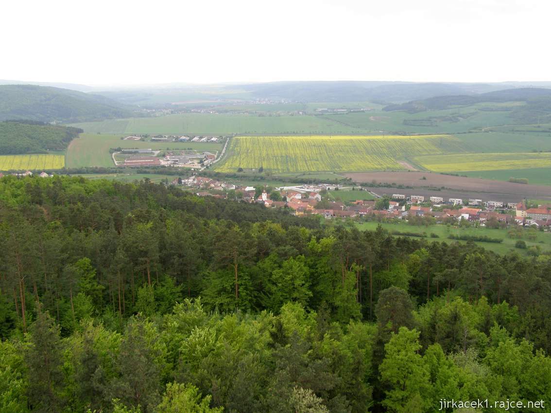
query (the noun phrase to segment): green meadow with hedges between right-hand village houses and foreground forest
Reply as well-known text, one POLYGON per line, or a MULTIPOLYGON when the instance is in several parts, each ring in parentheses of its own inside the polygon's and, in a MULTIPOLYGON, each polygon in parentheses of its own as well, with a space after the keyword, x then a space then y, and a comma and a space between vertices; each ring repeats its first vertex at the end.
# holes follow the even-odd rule
MULTIPOLYGON (((358 224, 358 228, 360 230, 373 231, 377 228, 377 225, 379 225, 379 222, 361 222, 360 224, 358 224)), ((507 236, 507 229, 491 230, 484 227, 480 227, 480 228, 453 228, 452 227, 448 229, 446 225, 437 224, 437 225, 431 225, 431 226, 425 227, 425 226, 409 225, 406 222, 400 222, 400 221, 396 223, 382 222, 381 225, 385 230, 388 230, 388 231, 420 232, 420 233, 426 232, 426 235, 428 237, 423 239, 428 241, 445 241, 447 243, 456 242, 456 240, 450 240, 448 238, 450 234, 488 236, 490 238, 501 238, 503 239, 502 243, 476 242, 476 244, 481 247, 484 247, 485 249, 489 249, 490 251, 494 251, 498 254, 505 254, 509 252, 511 249, 514 249, 520 254, 526 253, 526 249, 515 248, 515 243, 517 241, 517 238, 509 238, 509 236, 507 236), (431 233, 438 235, 439 238, 431 238, 430 237, 431 233)), ((521 239, 526 242, 527 247, 539 246, 542 249, 542 252, 551 251, 551 233, 549 232, 536 231, 536 241, 529 241, 526 236, 521 239)), ((458 242, 464 243, 466 241, 458 241, 458 242)))

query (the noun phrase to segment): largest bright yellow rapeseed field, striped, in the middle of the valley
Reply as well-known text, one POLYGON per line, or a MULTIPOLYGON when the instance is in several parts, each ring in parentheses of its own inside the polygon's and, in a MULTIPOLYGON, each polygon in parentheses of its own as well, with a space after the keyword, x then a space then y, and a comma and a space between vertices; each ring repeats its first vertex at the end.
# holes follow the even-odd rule
POLYGON ((273 172, 403 170, 407 156, 463 152, 452 135, 417 136, 240 136, 215 169, 273 172))

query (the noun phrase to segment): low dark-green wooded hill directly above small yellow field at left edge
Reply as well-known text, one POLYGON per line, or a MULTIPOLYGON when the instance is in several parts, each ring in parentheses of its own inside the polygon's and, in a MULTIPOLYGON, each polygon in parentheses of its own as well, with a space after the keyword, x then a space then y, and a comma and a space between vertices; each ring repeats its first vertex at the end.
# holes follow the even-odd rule
POLYGON ((0 155, 63 150, 82 129, 37 121, 0 122, 0 155))

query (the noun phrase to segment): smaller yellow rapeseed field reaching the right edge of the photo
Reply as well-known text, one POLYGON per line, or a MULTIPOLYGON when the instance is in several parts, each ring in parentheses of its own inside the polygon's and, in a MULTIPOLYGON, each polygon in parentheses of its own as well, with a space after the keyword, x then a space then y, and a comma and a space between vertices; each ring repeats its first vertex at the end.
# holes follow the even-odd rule
POLYGON ((493 171, 551 167, 551 153, 453 154, 415 156, 429 171, 493 171))

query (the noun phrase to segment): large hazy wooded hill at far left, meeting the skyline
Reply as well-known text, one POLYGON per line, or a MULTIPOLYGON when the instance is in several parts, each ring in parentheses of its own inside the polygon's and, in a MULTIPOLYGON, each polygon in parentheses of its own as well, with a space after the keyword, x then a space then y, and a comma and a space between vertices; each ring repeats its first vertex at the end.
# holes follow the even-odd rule
POLYGON ((128 116, 132 110, 100 95, 36 85, 0 85, 0 121, 70 123, 128 116))

